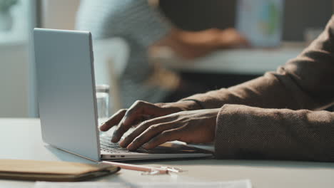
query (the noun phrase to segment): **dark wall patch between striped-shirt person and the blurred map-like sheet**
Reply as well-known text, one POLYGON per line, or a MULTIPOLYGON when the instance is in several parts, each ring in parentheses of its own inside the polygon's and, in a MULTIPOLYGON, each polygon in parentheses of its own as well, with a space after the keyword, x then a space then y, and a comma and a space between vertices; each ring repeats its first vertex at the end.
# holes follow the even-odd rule
POLYGON ((186 30, 234 26, 236 0, 160 0, 160 6, 165 16, 186 30))

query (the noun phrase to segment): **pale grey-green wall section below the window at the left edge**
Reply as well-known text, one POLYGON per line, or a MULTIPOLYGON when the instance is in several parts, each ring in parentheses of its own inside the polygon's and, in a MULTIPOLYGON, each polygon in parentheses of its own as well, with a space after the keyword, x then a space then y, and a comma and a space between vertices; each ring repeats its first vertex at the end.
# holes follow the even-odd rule
POLYGON ((0 45, 0 57, 0 117, 27 117, 27 44, 0 45))

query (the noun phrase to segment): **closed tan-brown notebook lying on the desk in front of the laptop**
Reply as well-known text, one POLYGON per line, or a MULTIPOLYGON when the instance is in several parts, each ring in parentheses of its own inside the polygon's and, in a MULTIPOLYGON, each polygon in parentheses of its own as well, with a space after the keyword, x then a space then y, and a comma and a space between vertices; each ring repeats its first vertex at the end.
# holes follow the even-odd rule
POLYGON ((0 160, 0 179, 77 182, 118 172, 109 164, 36 160, 0 160))

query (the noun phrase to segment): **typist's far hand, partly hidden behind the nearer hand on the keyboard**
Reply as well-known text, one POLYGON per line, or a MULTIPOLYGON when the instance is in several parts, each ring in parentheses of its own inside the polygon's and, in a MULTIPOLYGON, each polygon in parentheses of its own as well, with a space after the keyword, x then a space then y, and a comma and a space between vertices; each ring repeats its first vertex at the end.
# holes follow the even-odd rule
POLYGON ((123 134, 134 125, 138 125, 144 120, 149 120, 163 115, 170 115, 184 110, 197 110, 198 106, 195 102, 185 100, 176 103, 146 103, 138 100, 128 109, 119 110, 111 118, 101 125, 101 131, 107 131, 111 127, 118 125, 113 132, 111 142, 118 142, 123 134))

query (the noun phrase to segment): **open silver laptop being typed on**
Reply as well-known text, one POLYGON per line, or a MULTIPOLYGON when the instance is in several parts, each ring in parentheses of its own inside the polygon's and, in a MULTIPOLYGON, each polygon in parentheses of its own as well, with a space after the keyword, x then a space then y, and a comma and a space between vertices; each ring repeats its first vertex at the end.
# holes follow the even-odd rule
POLYGON ((89 31, 34 28, 41 135, 47 144, 90 160, 208 157, 176 142, 129 152, 98 130, 93 48, 89 31))

